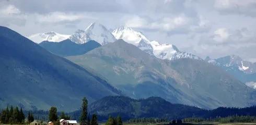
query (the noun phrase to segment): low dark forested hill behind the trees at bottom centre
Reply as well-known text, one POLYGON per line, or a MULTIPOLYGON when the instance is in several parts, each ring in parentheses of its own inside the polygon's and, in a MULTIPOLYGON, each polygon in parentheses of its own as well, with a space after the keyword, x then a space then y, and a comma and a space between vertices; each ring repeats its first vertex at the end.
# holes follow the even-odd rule
POLYGON ((107 96, 89 105, 90 113, 96 113, 100 119, 107 120, 109 116, 122 116, 130 118, 168 118, 181 119, 188 117, 201 117, 207 110, 171 104, 160 97, 146 99, 132 99, 125 96, 107 96))

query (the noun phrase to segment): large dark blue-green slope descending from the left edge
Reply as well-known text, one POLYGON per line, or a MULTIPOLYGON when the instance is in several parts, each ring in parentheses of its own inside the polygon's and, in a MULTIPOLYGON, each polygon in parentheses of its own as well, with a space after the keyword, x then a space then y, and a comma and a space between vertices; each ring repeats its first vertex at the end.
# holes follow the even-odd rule
POLYGON ((95 74, 6 27, 0 27, 0 71, 0 108, 56 106, 73 111, 85 96, 93 102, 121 94, 95 74))

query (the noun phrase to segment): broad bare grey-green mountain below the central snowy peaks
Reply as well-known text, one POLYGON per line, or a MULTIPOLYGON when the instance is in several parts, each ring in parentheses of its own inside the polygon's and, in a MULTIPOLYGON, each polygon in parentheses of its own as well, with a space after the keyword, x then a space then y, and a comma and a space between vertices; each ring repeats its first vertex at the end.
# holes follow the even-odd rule
POLYGON ((162 60, 121 39, 67 59, 133 98, 159 96, 171 103, 211 109, 255 103, 253 89, 216 66, 190 58, 162 60))

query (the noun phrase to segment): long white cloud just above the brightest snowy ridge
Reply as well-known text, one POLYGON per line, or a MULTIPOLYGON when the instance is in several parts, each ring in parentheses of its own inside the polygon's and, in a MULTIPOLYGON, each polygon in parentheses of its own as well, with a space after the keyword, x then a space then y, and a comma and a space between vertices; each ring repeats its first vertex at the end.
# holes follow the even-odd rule
POLYGON ((155 17, 154 19, 132 16, 125 19, 125 26, 167 33, 171 32, 172 34, 175 34, 187 33, 190 31, 197 32, 199 30, 202 30, 202 28, 206 29, 207 22, 204 21, 205 20, 201 19, 195 20, 193 18, 185 16, 184 14, 170 17, 155 17))

